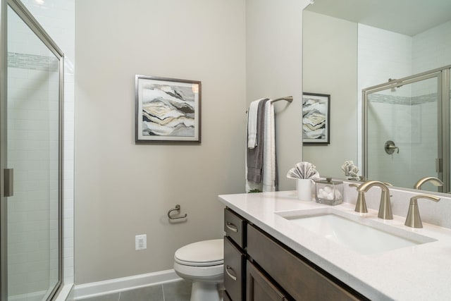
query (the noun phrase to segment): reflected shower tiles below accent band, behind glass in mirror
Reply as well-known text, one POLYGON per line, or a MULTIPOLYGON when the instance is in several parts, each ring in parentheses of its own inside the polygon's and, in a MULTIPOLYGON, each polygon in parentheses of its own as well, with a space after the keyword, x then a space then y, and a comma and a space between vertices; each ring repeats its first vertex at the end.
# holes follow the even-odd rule
POLYGON ((369 133, 371 178, 384 175, 384 180, 400 187, 413 188, 419 178, 435 174, 437 155, 436 102, 424 104, 371 103, 369 120, 373 131, 369 133), (371 112, 378 112, 372 118, 371 112), (393 130, 396 129, 396 130, 393 130), (393 140, 400 153, 386 154, 385 141, 393 140), (376 158, 376 160, 373 160, 376 158), (374 176, 376 174, 376 176, 374 176))

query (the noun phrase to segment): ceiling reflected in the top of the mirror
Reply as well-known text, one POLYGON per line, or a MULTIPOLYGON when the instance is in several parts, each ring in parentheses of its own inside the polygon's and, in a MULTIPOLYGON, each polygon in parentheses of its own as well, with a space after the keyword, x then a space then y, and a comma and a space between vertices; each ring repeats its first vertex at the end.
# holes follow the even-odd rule
POLYGON ((409 36, 451 20, 451 0, 314 0, 306 10, 409 36))

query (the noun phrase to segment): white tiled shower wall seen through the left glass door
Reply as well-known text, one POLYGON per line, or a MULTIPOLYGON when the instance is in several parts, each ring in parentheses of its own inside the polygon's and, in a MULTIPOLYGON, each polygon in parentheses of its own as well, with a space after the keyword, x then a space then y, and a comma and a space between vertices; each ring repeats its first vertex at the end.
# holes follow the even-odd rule
POLYGON ((8 10, 8 295, 19 300, 58 279, 57 116, 58 61, 8 10))

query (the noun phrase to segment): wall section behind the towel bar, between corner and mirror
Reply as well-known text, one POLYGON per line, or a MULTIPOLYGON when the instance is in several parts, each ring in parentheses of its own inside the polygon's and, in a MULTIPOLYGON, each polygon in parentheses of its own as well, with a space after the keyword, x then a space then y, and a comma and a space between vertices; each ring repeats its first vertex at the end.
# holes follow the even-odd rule
POLYGON ((247 104, 294 97, 292 104, 276 103, 279 190, 295 189, 286 174, 302 161, 302 9, 308 2, 246 1, 247 104))

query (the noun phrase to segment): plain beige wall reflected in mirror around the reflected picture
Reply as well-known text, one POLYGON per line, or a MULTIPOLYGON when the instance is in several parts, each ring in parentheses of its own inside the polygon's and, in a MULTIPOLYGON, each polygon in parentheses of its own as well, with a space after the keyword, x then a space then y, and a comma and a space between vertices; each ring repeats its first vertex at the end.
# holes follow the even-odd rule
POLYGON ((357 23, 304 11, 303 90, 330 94, 330 145, 304 145, 321 176, 344 178, 357 164, 357 23))

